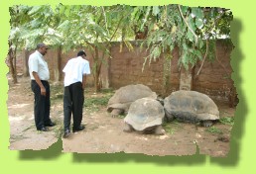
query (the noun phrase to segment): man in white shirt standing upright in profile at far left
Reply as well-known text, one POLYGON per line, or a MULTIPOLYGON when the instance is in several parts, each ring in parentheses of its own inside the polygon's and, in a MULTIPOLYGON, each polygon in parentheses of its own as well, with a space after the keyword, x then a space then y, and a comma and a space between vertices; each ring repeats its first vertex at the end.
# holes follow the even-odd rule
POLYGON ((44 58, 47 53, 46 44, 38 44, 37 50, 29 57, 29 71, 31 77, 31 89, 34 92, 34 116, 38 131, 48 131, 46 127, 54 127, 56 124, 50 119, 50 72, 48 63, 44 58))

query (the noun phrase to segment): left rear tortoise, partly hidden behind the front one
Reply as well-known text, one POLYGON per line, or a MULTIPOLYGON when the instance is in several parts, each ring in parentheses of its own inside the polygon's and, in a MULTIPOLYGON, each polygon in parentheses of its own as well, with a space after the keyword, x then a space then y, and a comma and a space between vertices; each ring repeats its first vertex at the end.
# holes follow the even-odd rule
POLYGON ((112 117, 127 114, 130 105, 137 99, 144 97, 156 99, 157 94, 142 84, 121 87, 109 99, 107 112, 111 113, 112 117))

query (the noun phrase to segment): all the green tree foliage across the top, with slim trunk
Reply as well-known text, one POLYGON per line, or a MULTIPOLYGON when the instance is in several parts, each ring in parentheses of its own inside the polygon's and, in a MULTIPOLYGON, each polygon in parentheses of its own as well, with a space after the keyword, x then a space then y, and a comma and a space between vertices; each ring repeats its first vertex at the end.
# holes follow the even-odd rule
MULTIPOLYGON (((17 49, 32 49, 39 42, 50 44, 60 52, 86 47, 93 58, 95 89, 100 89, 100 69, 110 57, 112 42, 132 49, 129 42, 144 33, 142 46, 149 55, 145 62, 164 54, 172 58, 173 49, 180 50, 180 65, 188 68, 197 61, 214 56, 212 42, 229 38, 232 13, 222 8, 166 6, 13 6, 10 8, 11 32, 9 60, 15 69, 17 49)), ((59 61, 62 60, 61 53, 59 61)), ((58 63, 60 64, 60 63, 58 63)), ((203 63, 202 63, 203 64, 203 63)), ((59 68, 60 73, 62 70, 59 68)), ((12 71, 15 74, 15 70, 12 71)), ((61 75, 60 75, 61 76, 61 75)), ((59 79, 60 80, 60 79, 59 79)))

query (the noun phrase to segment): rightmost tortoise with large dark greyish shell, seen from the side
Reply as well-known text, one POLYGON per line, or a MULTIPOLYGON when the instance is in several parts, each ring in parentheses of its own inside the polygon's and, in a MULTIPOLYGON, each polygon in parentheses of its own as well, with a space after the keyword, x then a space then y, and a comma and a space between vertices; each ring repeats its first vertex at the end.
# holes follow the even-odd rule
POLYGON ((216 104, 205 94, 196 91, 180 90, 173 92, 164 100, 167 121, 200 123, 211 127, 219 120, 216 104))

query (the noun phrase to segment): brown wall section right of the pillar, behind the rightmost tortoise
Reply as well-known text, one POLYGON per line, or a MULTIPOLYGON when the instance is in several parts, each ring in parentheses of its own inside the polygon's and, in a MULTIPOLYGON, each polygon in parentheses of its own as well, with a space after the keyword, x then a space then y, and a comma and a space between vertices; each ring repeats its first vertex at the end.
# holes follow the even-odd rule
MULTIPOLYGON (((219 60, 205 61, 197 78, 193 79, 193 90, 211 96, 228 97, 233 80, 230 79, 232 73, 231 46, 223 44, 222 41, 216 43, 216 55, 219 60)), ((200 63, 195 66, 194 72, 198 71, 200 63)))

